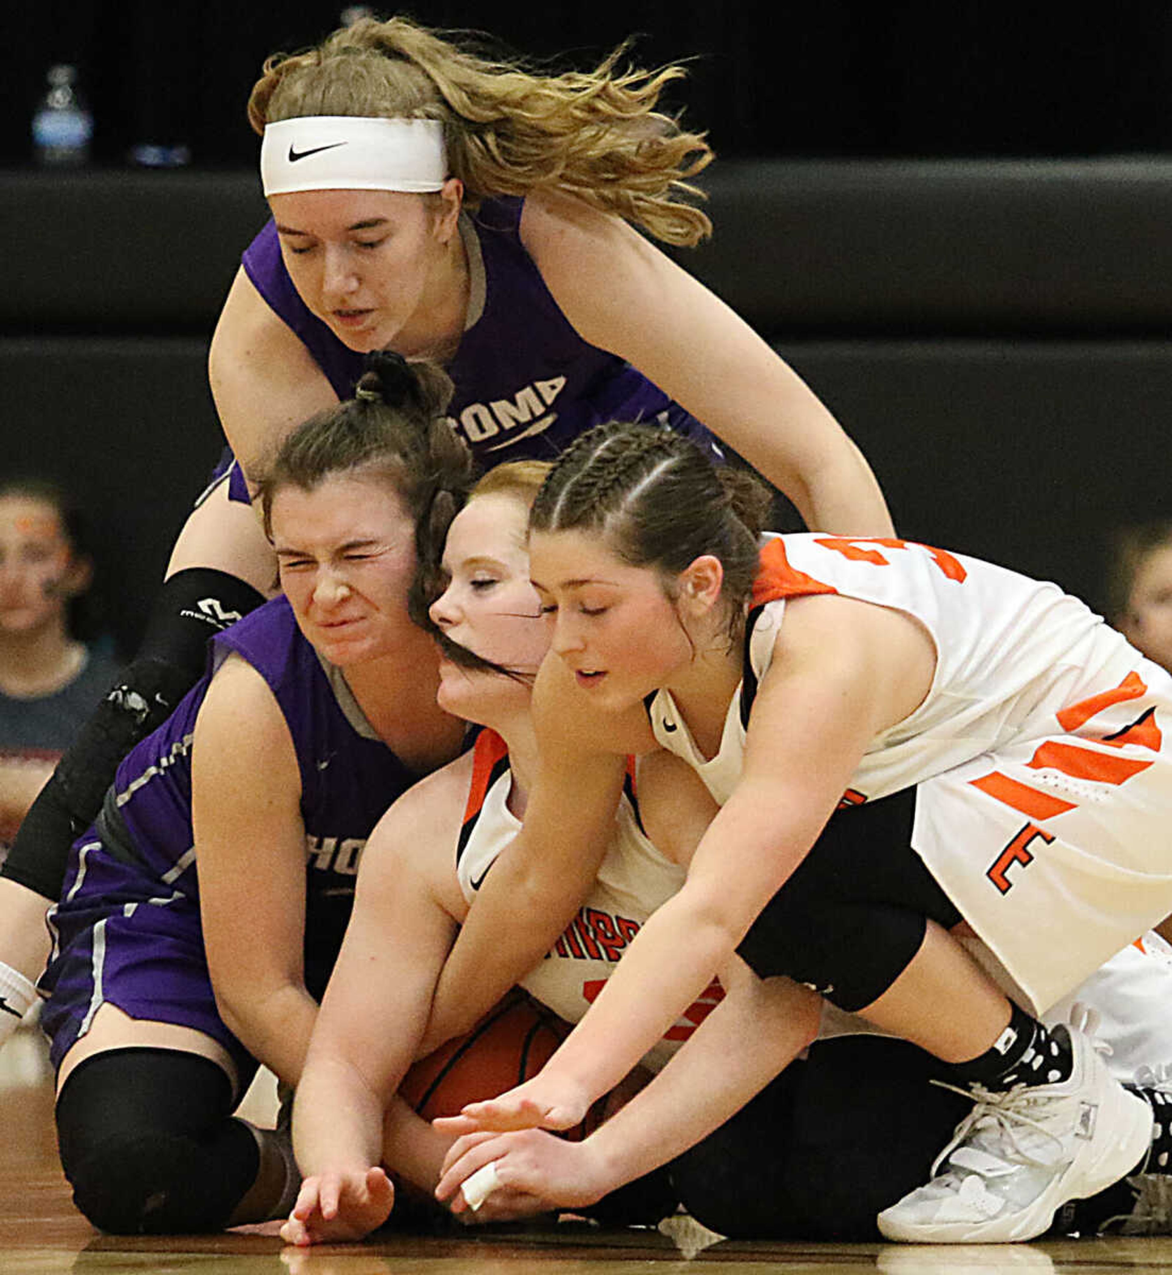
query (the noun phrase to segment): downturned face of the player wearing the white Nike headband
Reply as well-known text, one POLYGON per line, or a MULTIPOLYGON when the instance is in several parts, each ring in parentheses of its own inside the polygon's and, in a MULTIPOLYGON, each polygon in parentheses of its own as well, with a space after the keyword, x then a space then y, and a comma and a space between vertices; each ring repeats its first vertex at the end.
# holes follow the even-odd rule
POLYGON ((389 190, 307 190, 273 195, 269 207, 293 287, 344 346, 363 353, 398 348, 404 329, 426 317, 429 280, 454 229, 435 200, 389 190))

